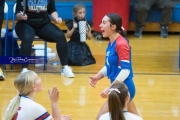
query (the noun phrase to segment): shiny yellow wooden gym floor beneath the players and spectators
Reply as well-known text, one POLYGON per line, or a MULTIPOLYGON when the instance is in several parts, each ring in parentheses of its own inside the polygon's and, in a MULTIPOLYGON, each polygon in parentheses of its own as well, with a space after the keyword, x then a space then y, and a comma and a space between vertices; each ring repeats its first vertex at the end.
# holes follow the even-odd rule
MULTIPOLYGON (((142 38, 134 38, 128 33, 132 47, 132 62, 136 96, 134 98, 140 116, 144 120, 180 120, 180 72, 178 68, 179 34, 171 33, 168 38, 160 38, 159 33, 144 33, 142 38)), ((96 88, 89 85, 89 76, 94 75, 104 64, 108 40, 87 41, 97 63, 88 66, 72 66, 75 78, 60 75, 60 66, 48 65, 47 70, 30 66, 42 78, 43 91, 36 101, 51 113, 47 90, 57 86, 60 90, 59 106, 62 114, 73 120, 94 120, 105 99, 100 92, 110 83, 107 78, 98 82, 96 88)), ((55 50, 55 44, 48 43, 55 50)), ((54 59, 58 60, 58 59, 54 59)), ((53 61, 53 60, 52 60, 53 61)), ((49 62, 50 63, 50 62, 49 62)), ((4 71, 5 81, 0 81, 0 119, 3 119, 10 100, 17 94, 13 86, 20 67, 4 71)))

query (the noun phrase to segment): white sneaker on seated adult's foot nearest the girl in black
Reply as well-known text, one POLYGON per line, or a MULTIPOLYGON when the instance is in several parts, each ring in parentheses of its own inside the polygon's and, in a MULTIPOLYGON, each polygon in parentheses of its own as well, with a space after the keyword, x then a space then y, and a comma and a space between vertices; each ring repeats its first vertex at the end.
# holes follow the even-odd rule
POLYGON ((72 72, 72 68, 69 66, 65 66, 61 70, 61 75, 64 75, 66 77, 74 77, 74 73, 72 72))

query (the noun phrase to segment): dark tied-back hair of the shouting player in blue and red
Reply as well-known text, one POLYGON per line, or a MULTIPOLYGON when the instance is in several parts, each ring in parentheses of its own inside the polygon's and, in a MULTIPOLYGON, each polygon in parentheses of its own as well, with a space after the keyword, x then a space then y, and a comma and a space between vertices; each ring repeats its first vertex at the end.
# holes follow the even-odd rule
POLYGON ((106 16, 110 18, 109 21, 112 25, 116 25, 116 31, 125 37, 125 32, 122 29, 122 18, 116 13, 109 13, 106 16))

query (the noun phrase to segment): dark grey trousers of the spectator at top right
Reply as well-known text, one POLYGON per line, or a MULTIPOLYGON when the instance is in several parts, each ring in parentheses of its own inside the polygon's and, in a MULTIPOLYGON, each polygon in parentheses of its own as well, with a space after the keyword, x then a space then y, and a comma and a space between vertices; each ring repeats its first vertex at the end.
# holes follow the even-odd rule
POLYGON ((160 21, 161 26, 168 26, 172 20, 172 12, 174 3, 171 0, 136 0, 136 26, 144 26, 148 15, 148 11, 152 6, 161 9, 162 17, 160 21))

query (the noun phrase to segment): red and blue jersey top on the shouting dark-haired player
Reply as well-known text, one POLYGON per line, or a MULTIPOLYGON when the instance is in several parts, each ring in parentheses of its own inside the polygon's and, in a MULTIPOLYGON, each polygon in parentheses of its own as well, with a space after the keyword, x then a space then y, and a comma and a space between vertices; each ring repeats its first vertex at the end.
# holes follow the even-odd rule
POLYGON ((111 83, 122 69, 130 70, 130 74, 126 79, 133 78, 131 48, 123 36, 119 35, 113 43, 109 42, 106 49, 105 66, 107 68, 107 76, 111 80, 111 83))

